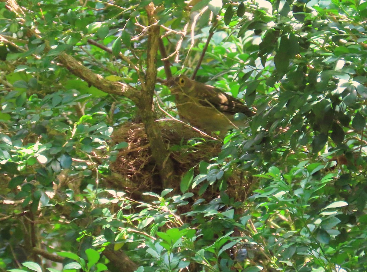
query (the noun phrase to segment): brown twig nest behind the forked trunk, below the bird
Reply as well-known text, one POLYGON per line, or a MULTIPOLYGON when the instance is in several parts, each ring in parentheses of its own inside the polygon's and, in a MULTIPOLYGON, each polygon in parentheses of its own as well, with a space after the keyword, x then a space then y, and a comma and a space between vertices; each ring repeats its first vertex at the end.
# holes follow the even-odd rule
MULTIPOLYGON (((160 122, 160 127, 174 163, 174 184, 171 188, 178 192, 182 175, 202 160, 209 162, 212 157, 216 157, 221 151, 222 142, 204 139, 199 132, 179 122, 160 122)), ((121 150, 116 161, 110 166, 113 178, 108 180, 109 185, 119 190, 126 190, 136 197, 139 195, 141 197, 142 192, 160 193, 162 188, 158 186, 161 184, 159 171, 152 159, 144 125, 124 123, 114 132, 113 140, 116 143, 127 142, 128 147, 121 150)), ((244 189, 243 173, 232 171, 230 181, 227 182, 231 185, 236 184, 235 187, 228 186, 233 193, 243 195, 241 193, 244 189), (239 191, 238 186, 242 188, 239 191)), ((232 193, 229 195, 233 196, 232 193)))

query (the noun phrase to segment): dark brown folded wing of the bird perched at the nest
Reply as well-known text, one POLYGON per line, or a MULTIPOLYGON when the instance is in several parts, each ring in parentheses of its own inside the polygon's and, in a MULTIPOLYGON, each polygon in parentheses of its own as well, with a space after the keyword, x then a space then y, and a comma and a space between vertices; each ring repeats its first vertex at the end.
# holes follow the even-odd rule
POLYGON ((215 88, 214 86, 206 85, 203 90, 198 90, 197 95, 200 95, 200 104, 207 106, 208 102, 217 108, 220 112, 235 114, 237 112, 244 113, 246 116, 254 116, 247 106, 233 96, 226 94, 215 88))

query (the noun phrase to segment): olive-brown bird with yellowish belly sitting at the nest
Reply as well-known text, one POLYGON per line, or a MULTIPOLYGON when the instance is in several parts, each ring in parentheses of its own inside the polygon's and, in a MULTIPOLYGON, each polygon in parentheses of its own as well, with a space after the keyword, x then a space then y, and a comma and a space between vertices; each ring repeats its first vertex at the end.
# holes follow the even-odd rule
POLYGON ((167 85, 175 95, 180 118, 206 133, 219 131, 223 134, 229 128, 243 127, 244 120, 235 120, 235 113, 248 117, 255 115, 239 99, 185 75, 172 77, 167 85))

